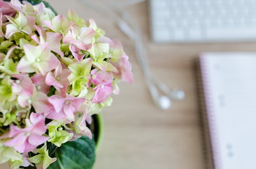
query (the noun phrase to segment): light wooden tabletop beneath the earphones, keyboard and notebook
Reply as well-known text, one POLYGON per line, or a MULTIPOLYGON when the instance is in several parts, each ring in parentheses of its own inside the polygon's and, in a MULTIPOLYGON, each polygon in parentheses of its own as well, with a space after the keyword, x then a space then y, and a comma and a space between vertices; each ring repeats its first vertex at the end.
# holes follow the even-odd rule
MULTIPOLYGON (((119 38, 133 65, 134 84, 120 85, 113 105, 102 111, 104 141, 95 169, 204 169, 203 136, 197 98, 194 60, 200 52, 256 51, 255 43, 155 44, 149 38, 147 2, 127 7, 140 23, 151 69, 157 79, 185 90, 186 99, 167 111, 152 102, 133 42, 108 18, 78 0, 49 0, 60 14, 75 9, 84 19, 94 18, 111 38, 119 38)), ((6 165, 1 169, 8 168, 6 165)), ((69 169, 69 168, 67 168, 69 169)))

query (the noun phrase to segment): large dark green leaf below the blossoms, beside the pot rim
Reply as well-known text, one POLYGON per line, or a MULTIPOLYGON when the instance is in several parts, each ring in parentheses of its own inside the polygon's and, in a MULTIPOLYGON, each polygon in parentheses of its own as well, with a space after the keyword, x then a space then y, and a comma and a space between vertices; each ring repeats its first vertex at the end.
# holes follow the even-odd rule
POLYGON ((82 136, 76 141, 61 145, 54 156, 57 161, 48 169, 91 169, 95 162, 95 141, 87 136, 82 136))

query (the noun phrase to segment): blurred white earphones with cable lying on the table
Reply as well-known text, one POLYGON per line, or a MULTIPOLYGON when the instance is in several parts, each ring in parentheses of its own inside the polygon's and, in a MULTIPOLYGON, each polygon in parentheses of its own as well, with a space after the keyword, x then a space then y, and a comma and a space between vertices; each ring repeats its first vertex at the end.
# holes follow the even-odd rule
MULTIPOLYGON (((148 89, 150 90, 150 94, 154 103, 162 110, 167 110, 172 105, 172 100, 181 101, 185 98, 185 93, 181 89, 169 89, 164 83, 156 80, 153 75, 151 74, 150 68, 148 66, 148 60, 146 51, 142 42, 141 30, 138 25, 131 19, 129 13, 127 13, 124 9, 120 10, 120 6, 118 8, 116 5, 112 8, 106 8, 106 6, 102 6, 101 4, 92 2, 90 0, 81 0, 90 8, 93 8, 97 11, 100 11, 102 15, 109 17, 116 25, 123 31, 123 33, 131 38, 135 43, 136 49, 136 57, 139 64, 142 67, 142 71, 144 74, 144 78, 147 84, 148 89), (119 14, 118 14, 119 13, 119 14), (159 91, 163 94, 160 95, 159 91)), ((141 1, 133 1, 135 2, 142 2, 141 1)), ((105 5, 105 4, 104 4, 105 5)), ((123 4, 125 5, 125 4, 123 4)), ((129 5, 129 4, 128 4, 129 5)))

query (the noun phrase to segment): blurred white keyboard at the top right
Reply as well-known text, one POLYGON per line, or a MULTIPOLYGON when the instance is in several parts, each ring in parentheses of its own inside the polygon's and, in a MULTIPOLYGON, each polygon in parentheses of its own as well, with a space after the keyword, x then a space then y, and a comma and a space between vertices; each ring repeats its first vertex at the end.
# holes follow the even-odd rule
POLYGON ((256 41, 256 0, 150 0, 155 42, 256 41))

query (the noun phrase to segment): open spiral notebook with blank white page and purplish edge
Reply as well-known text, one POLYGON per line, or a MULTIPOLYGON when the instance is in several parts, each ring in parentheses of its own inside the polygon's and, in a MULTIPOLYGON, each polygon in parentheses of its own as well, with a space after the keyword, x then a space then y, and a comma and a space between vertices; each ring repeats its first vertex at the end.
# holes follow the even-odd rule
POLYGON ((256 53, 199 58, 207 168, 256 168, 256 53))

